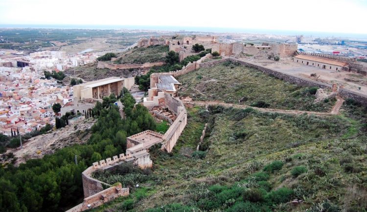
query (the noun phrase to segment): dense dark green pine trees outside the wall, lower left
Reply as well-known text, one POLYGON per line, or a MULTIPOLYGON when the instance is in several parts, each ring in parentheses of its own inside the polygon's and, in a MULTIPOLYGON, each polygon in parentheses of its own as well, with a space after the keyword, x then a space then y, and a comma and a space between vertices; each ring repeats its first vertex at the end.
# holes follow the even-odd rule
MULTIPOLYGON (((97 103, 98 108, 93 108, 93 112, 99 112, 98 121, 87 144, 58 149, 42 159, 28 160, 18 168, 12 164, 0 167, 0 211, 55 212, 76 205, 83 198, 82 171, 95 161, 124 152, 127 136, 155 129, 148 110, 135 106, 129 93, 124 92, 121 102, 126 111, 124 120, 118 106, 103 107, 97 103)), ((0 139, 7 138, 0 136, 0 139)))

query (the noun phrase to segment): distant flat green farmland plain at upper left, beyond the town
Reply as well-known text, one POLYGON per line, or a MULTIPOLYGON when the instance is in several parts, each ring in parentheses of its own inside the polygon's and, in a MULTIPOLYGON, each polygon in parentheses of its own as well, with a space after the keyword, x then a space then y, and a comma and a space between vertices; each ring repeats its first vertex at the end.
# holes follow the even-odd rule
POLYGON ((57 50, 78 53, 89 48, 106 51, 127 48, 139 38, 159 34, 138 30, 2 28, 0 48, 25 52, 57 50))

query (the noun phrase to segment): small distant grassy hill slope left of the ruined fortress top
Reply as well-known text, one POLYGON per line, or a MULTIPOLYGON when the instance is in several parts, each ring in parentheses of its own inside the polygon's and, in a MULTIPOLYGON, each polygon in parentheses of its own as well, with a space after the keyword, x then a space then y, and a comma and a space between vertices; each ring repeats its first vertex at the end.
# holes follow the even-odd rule
POLYGON ((168 46, 156 45, 147 48, 134 48, 118 57, 116 64, 144 64, 147 62, 164 62, 168 46))

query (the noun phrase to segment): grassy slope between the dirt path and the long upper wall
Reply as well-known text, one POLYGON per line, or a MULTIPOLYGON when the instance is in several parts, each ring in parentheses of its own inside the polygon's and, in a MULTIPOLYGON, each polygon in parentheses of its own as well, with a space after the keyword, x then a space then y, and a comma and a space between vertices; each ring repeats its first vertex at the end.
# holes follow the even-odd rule
POLYGON ((335 98, 315 103, 315 87, 301 87, 253 68, 223 63, 182 75, 179 95, 194 101, 223 101, 256 107, 326 112, 335 98))

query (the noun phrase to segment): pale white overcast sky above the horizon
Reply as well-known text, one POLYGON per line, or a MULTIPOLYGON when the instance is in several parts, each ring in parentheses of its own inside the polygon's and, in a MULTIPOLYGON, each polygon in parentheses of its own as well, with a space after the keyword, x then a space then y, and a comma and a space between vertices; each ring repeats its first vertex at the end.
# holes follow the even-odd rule
POLYGON ((367 0, 0 0, 0 24, 217 27, 367 34, 367 0))

